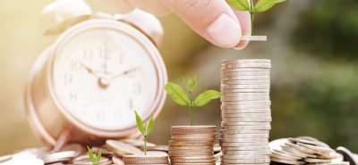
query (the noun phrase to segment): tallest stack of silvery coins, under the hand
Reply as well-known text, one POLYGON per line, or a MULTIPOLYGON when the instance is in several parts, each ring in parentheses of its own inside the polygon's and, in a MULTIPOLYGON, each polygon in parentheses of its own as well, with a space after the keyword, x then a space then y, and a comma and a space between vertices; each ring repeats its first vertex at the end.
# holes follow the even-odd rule
POLYGON ((270 68, 270 60, 222 62, 222 164, 269 164, 270 68))

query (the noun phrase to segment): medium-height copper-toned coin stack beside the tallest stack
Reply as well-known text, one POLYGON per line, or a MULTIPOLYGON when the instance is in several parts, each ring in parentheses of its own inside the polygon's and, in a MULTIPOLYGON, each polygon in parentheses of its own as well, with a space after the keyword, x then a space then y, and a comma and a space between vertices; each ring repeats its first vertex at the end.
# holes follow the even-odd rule
POLYGON ((169 158, 172 165, 215 165, 215 126, 174 126, 171 128, 169 158))

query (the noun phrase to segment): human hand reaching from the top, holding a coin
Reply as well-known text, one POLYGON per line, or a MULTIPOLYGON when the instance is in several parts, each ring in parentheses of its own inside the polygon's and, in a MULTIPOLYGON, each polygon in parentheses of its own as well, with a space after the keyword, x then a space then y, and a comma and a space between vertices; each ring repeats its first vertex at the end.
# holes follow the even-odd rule
POLYGON ((251 35, 249 12, 232 9, 225 0, 98 0, 111 12, 131 12, 134 8, 157 16, 175 12, 201 37, 220 47, 243 49, 241 40, 251 35))

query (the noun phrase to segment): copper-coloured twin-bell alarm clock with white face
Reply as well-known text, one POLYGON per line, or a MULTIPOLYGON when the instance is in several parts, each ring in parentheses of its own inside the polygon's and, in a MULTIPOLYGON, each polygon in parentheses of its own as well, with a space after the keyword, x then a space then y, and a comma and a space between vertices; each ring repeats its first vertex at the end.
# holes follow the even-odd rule
POLYGON ((44 34, 61 33, 30 70, 25 101, 44 144, 102 144, 138 136, 166 99, 158 52, 163 29, 147 12, 92 15, 82 0, 57 0, 43 11, 44 34))

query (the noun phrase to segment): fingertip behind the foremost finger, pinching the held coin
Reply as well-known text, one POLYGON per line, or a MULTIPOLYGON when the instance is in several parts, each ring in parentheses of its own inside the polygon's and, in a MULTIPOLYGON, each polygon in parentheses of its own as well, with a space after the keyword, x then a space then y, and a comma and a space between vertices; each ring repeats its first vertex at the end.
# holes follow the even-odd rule
MULTIPOLYGON (((237 19, 240 22, 241 32, 243 36, 251 36, 251 16, 250 12, 240 12, 234 10, 237 19)), ((249 45, 249 41, 241 40, 239 44, 234 46, 234 49, 241 50, 246 45, 249 45)))

